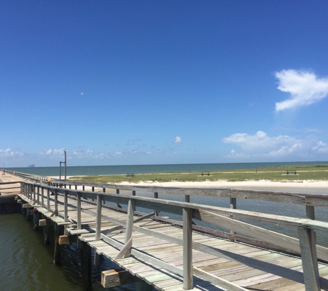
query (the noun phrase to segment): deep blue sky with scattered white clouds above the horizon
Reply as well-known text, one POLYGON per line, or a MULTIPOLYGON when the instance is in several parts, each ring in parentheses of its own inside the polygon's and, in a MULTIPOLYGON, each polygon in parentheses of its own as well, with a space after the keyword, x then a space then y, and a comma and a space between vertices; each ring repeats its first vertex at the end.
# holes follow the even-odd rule
POLYGON ((6 167, 328 160, 328 1, 0 2, 6 167))

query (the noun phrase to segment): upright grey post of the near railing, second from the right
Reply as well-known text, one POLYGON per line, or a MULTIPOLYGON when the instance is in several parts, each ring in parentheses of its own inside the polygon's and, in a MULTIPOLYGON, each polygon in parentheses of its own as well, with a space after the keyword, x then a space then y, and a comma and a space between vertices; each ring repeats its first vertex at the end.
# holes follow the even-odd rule
POLYGON ((193 289, 193 236, 192 236, 192 216, 191 208, 182 209, 183 217, 183 264, 184 264, 184 290, 193 289))

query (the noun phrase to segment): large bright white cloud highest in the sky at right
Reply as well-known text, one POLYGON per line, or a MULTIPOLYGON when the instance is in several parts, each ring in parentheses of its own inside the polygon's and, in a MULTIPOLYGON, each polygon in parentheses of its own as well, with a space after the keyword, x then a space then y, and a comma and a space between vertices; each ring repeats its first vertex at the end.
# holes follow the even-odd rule
POLYGON ((290 93, 289 99, 276 103, 276 111, 307 106, 328 95, 328 77, 319 79, 305 70, 282 70, 276 73, 278 89, 290 93))

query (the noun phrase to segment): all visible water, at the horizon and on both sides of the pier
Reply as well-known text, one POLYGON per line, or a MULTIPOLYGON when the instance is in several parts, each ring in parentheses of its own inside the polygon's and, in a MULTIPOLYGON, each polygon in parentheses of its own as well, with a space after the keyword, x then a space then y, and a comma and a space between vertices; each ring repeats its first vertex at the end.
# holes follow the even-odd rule
MULTIPOLYGON (((126 172, 151 173, 151 172, 184 172, 201 170, 233 170, 242 168, 262 168, 280 165, 313 165, 328 162, 304 162, 304 163, 213 163, 213 164, 185 164, 185 165, 116 165, 116 166, 91 166, 68 167, 68 175, 84 174, 126 174, 126 172)), ((8 168, 17 172, 28 172, 42 176, 55 176, 59 174, 59 168, 8 168)), ((122 194, 124 191, 122 191, 122 194)), ((129 192, 126 192, 129 194, 129 192)), ((152 197, 152 193, 138 192, 137 195, 152 197)), ((173 194, 160 194, 162 199, 184 201, 184 197, 173 194)), ((215 197, 191 197, 192 203, 204 203, 229 207, 229 199, 215 197)), ((251 201, 238 199, 237 208, 242 210, 258 211, 271 214, 288 215, 291 217, 306 217, 305 207, 286 203, 271 203, 266 201, 251 201)), ((144 211, 142 209, 137 209, 144 211)), ((172 214, 160 213, 162 216, 172 214)), ((180 220, 181 217, 175 216, 180 220)), ((328 221, 327 208, 316 208, 316 219, 328 221)), ((196 221, 200 225, 199 222, 196 221)), ((26 221, 21 214, 0 215, 0 290, 81 290, 81 265, 79 250, 76 244, 64 245, 61 250, 61 265, 55 265, 53 261, 53 245, 44 245, 42 230, 33 231, 32 222, 26 221)), ((259 225, 264 226, 264 225, 259 225)), ((267 227, 267 225, 265 225, 267 227)), ((271 226, 271 230, 297 237, 296 230, 280 229, 271 226)), ((318 233, 317 241, 320 245, 328 247, 326 233, 318 233)), ((93 288, 104 290, 101 281, 102 270, 115 268, 108 259, 93 266, 93 288)), ((124 288, 112 288, 105 290, 134 290, 134 285, 124 288)))

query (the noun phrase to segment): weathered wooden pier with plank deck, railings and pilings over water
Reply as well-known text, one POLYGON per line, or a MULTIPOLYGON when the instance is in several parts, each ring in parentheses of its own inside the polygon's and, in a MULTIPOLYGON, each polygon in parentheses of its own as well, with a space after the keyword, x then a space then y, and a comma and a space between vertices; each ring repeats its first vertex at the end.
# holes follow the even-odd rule
POLYGON ((328 206, 326 194, 11 179, 35 227, 44 228, 45 239, 55 233, 55 263, 60 245, 81 248, 82 290, 92 290, 90 265, 101 256, 121 267, 102 272, 104 287, 142 281, 140 290, 328 290, 328 248, 316 244, 328 222, 314 219, 316 207, 328 206), (159 199, 161 193, 185 199, 159 199), (190 203, 191 195, 229 197, 230 207, 190 203), (237 199, 303 205, 307 219, 238 210, 237 199), (262 225, 294 229, 298 237, 262 225))

